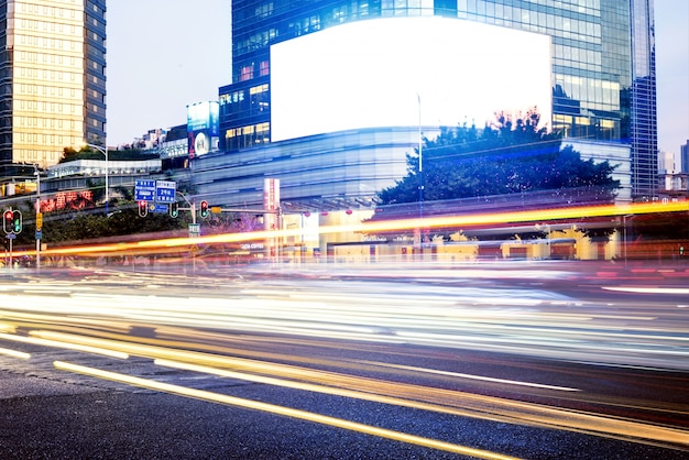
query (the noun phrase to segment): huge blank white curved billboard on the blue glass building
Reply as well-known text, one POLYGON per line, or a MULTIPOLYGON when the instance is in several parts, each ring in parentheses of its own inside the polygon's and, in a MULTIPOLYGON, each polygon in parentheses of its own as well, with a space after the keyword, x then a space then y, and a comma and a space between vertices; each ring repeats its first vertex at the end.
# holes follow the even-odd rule
POLYGON ((271 46, 272 141, 361 128, 551 119, 550 37, 446 18, 342 24, 271 46))

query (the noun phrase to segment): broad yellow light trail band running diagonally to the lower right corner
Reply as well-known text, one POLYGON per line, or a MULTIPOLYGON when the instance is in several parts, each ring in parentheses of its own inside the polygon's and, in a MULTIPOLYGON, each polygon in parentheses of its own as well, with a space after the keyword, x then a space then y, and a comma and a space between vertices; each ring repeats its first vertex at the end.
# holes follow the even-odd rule
MULTIPOLYGON (((389 382, 242 358, 114 340, 94 339, 59 332, 32 331, 30 333, 36 337, 50 337, 54 341, 86 342, 90 346, 99 346, 145 358, 179 361, 222 370, 233 369, 256 374, 278 375, 295 381, 317 382, 321 386, 327 385, 330 387, 346 388, 351 392, 375 394, 378 397, 384 398, 384 403, 386 404, 394 404, 393 401, 397 398, 400 399, 397 404, 402 406, 409 406, 409 404, 428 404, 428 406, 424 408, 431 409, 429 405, 435 405, 437 406, 435 410, 455 415, 502 423, 565 429, 641 443, 664 445, 665 447, 669 445, 669 447, 675 448, 677 448, 677 446, 683 446, 685 449, 689 448, 689 431, 633 419, 621 419, 600 414, 483 396, 467 392, 389 382)), ((329 388, 320 390, 321 393, 330 391, 329 388)), ((354 394, 356 393, 350 393, 350 396, 353 397, 354 394)), ((369 396, 367 396, 367 398, 369 396)), ((372 401, 380 401, 378 397, 372 401)), ((687 410, 681 412, 681 414, 689 415, 687 410)))

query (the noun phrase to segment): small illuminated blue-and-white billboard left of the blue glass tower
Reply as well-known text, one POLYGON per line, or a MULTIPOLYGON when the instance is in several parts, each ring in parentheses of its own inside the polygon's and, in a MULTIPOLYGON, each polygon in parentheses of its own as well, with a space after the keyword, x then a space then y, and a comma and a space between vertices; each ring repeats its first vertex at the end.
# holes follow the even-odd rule
POLYGON ((218 149, 219 114, 219 102, 187 106, 187 144, 190 158, 218 149))

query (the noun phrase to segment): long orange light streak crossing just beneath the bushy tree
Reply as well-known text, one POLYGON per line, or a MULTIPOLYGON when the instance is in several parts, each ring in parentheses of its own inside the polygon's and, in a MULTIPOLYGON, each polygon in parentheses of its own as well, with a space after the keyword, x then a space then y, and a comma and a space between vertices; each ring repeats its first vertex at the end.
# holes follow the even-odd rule
MULTIPOLYGON (((628 205, 601 205, 601 206, 581 206, 581 207, 566 207, 566 208, 551 208, 551 209, 534 209, 523 211, 511 212, 496 212, 496 213, 478 213, 478 215, 461 215, 461 216, 447 216, 447 217, 430 217, 425 219, 401 219, 391 221, 379 222, 361 222, 346 226, 326 226, 321 227, 317 231, 321 234, 331 233, 376 233, 384 231, 395 230, 409 230, 416 228, 464 228, 485 224, 505 224, 505 223, 518 223, 518 222, 532 222, 532 221, 553 221, 562 219, 577 219, 577 218, 591 218, 591 217, 615 217, 626 215, 643 215, 654 212, 681 212, 689 210, 689 201, 678 202, 635 202, 628 205)), ((283 229, 283 230, 265 230, 256 232, 245 233, 222 233, 201 236, 198 238, 171 238, 158 239, 136 242, 119 242, 107 244, 94 244, 88 247, 67 247, 67 248, 52 248, 42 251, 45 256, 51 255, 107 255, 119 252, 134 252, 140 251, 157 251, 166 249, 171 252, 173 250, 181 251, 186 247, 198 244, 220 244, 220 243, 237 243, 255 240, 266 240, 272 238, 288 238, 299 237, 304 232, 303 229, 283 229)), ((144 253, 145 253, 144 251, 144 253)), ((28 250, 23 254, 35 255, 35 250, 28 250)))

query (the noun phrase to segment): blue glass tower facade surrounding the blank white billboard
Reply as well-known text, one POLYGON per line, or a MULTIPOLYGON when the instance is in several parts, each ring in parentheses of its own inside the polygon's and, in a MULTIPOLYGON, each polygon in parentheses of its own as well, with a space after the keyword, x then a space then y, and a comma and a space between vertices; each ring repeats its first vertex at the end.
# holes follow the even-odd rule
POLYGON ((270 45, 350 21, 424 15, 550 36, 553 128, 569 139, 628 144, 632 196, 655 195, 653 0, 233 1, 232 83, 219 91, 221 150, 270 142, 270 45))

